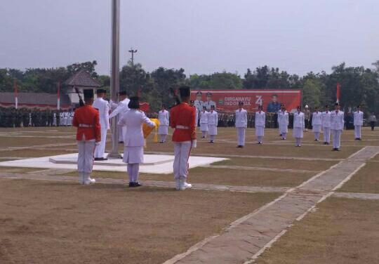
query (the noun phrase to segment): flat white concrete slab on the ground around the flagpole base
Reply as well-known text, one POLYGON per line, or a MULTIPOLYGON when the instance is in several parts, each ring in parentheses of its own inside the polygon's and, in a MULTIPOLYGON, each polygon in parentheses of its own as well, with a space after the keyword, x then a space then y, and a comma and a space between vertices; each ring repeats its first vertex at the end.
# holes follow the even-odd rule
MULTIPOLYGON (((74 163, 53 163, 55 161, 72 161, 76 159, 77 153, 64 154, 58 156, 39 157, 31 159, 20 159, 13 161, 2 161, 0 166, 8 167, 23 167, 23 168, 46 168, 46 169, 71 169, 76 170, 77 164, 74 163)), ((217 161, 223 161, 225 158, 219 157, 189 157, 189 168, 192 169, 197 166, 204 166, 217 161)), ((105 162, 105 161, 98 161, 105 162)), ((169 174, 173 173, 173 156, 172 155, 154 155, 145 154, 145 162, 147 164, 140 165, 140 173, 158 173, 169 174), (166 161, 166 162, 163 162, 166 161), (154 164, 156 162, 157 164, 154 164)), ((94 171, 126 171, 126 164, 121 159, 110 159, 109 165, 94 164, 94 171)))

